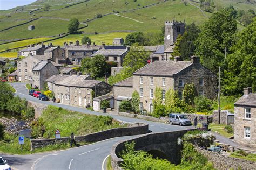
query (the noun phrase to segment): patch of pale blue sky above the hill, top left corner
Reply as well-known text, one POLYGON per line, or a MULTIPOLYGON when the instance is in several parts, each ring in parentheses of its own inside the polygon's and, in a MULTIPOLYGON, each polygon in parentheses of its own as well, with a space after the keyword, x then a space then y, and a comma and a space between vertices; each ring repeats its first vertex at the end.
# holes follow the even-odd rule
POLYGON ((16 6, 27 5, 36 0, 0 0, 0 10, 9 10, 16 6))

